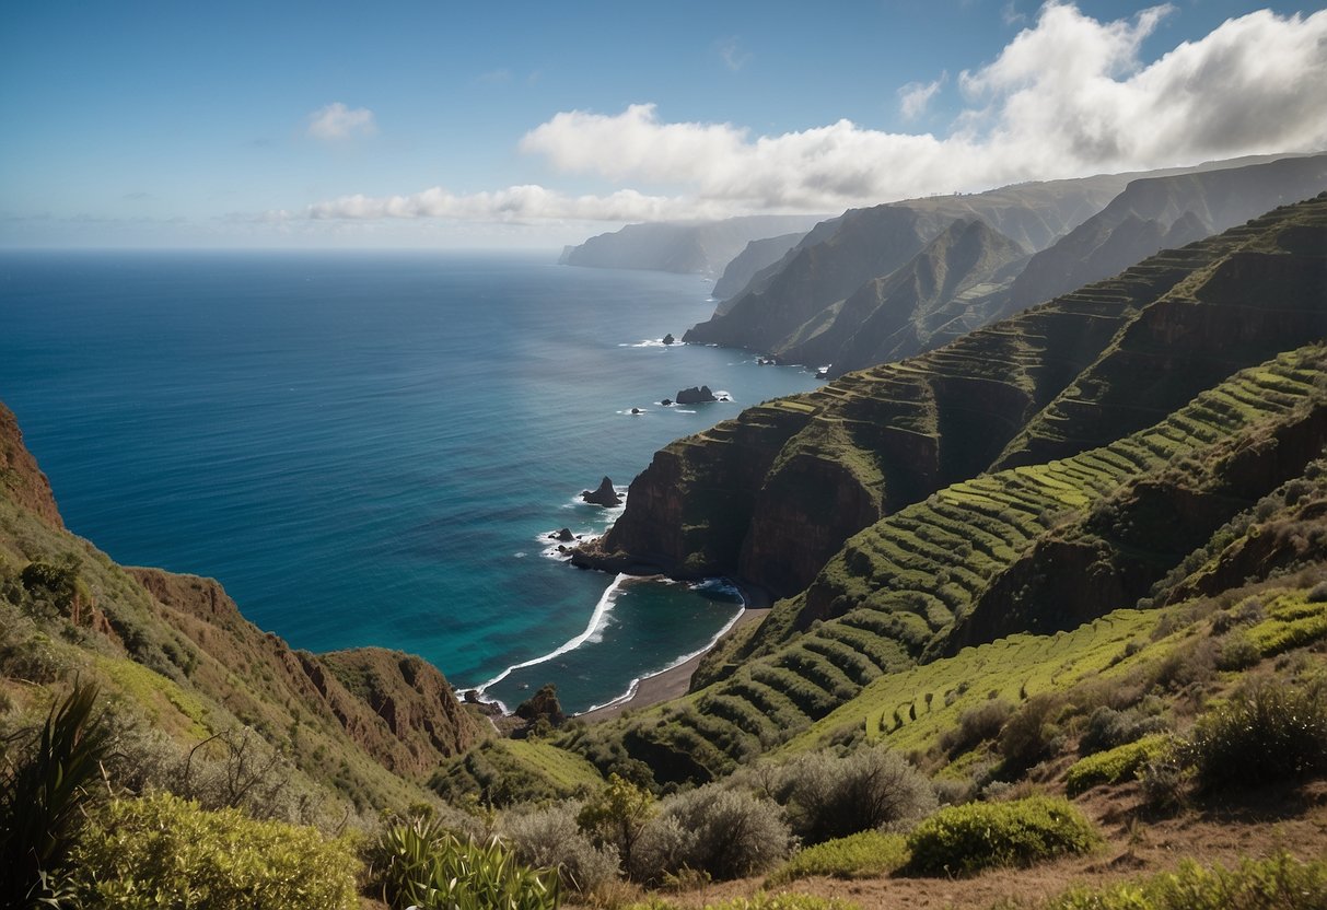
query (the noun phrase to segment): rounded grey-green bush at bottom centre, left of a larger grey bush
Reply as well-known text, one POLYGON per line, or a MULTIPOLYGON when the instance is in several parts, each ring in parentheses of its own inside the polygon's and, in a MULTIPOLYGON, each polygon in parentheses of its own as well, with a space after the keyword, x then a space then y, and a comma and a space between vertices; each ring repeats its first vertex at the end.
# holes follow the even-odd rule
POLYGON ((658 879, 682 868, 714 878, 739 878, 764 872, 788 854, 792 834, 779 807, 747 792, 709 784, 664 801, 658 825, 670 841, 660 850, 662 865, 640 869, 641 878, 658 879), (682 832, 681 838, 677 832, 682 832))

